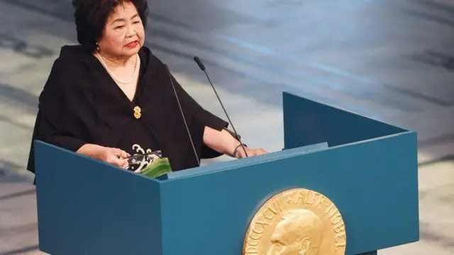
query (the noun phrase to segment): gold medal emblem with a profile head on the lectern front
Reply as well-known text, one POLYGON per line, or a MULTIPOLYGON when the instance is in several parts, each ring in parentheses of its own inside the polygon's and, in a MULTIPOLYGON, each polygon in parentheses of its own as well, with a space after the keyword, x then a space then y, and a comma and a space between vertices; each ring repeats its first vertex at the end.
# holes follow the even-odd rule
POLYGON ((295 188, 267 200, 253 217, 243 255, 345 254, 341 212, 326 196, 295 188))

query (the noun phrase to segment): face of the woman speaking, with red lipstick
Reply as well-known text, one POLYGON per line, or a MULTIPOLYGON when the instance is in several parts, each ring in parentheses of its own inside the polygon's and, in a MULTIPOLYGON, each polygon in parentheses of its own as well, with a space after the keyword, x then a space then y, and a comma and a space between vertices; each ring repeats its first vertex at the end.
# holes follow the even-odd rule
POLYGON ((124 2, 107 19, 98 43, 101 55, 130 57, 140 50, 144 41, 145 29, 137 9, 131 2, 124 2))

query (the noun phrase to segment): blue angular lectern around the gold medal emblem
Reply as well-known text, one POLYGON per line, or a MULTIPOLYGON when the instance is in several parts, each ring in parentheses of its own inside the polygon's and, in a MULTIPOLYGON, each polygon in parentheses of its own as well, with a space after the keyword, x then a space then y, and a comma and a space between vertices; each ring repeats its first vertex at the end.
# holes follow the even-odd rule
POLYGON ((323 193, 336 204, 347 233, 345 254, 418 241, 416 132, 283 96, 282 151, 162 179, 35 142, 40 250, 242 254, 258 208, 290 188, 323 193))

